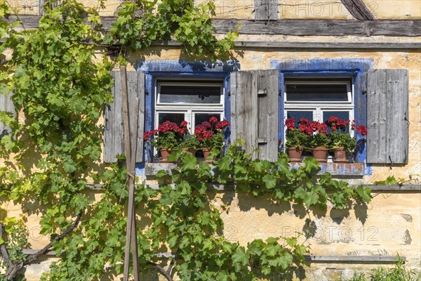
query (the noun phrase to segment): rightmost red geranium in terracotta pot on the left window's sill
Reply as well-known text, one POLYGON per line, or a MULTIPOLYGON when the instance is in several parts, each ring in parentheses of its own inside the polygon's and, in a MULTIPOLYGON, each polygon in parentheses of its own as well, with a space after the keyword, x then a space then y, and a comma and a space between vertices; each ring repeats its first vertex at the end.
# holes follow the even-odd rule
POLYGON ((224 132, 228 126, 227 120, 218 122, 216 117, 210 117, 209 122, 203 122, 194 128, 194 134, 200 143, 205 160, 208 160, 210 150, 222 150, 225 141, 224 132))

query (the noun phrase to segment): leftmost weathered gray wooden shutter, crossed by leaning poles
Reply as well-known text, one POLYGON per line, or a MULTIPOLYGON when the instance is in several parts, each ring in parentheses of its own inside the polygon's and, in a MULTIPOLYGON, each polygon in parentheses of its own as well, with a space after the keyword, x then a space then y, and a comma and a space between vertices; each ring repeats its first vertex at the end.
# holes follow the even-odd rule
MULTIPOLYGON (((123 97, 121 94, 121 76, 119 71, 113 71, 114 86, 112 95, 114 101, 105 108, 104 162, 116 162, 116 155, 124 153, 123 130, 123 97)), ((131 133, 138 126, 136 138, 136 162, 142 162, 143 157, 143 127, 145 115, 145 74, 143 72, 127 72, 128 112, 131 119, 131 133), (136 100, 139 103, 138 120, 135 120, 136 100)), ((132 139, 133 136, 132 136, 132 139)))

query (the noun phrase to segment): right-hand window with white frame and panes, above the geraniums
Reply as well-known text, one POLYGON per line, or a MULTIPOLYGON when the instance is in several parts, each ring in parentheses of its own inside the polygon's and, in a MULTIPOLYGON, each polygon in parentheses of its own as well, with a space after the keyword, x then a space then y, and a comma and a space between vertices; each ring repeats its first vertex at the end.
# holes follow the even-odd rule
POLYGON ((283 91, 285 117, 295 117, 296 123, 302 117, 318 122, 332 116, 354 119, 351 79, 286 79, 283 91))

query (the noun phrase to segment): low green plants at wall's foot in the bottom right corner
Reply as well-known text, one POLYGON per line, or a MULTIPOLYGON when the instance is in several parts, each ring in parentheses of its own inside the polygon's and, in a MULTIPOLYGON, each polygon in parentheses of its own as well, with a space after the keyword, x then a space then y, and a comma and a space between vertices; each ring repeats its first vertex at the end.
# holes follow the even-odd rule
POLYGON ((416 269, 408 269, 404 266, 404 261, 399 254, 396 255, 393 268, 374 268, 368 277, 363 273, 354 273, 348 281, 420 281, 421 272, 416 269))

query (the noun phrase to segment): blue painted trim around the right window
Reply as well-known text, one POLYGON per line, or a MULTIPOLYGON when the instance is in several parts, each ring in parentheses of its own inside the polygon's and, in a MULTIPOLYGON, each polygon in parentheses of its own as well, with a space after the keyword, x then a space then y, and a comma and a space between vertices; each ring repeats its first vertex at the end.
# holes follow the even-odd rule
MULTIPOLYGON (((284 58, 283 60, 271 60, 272 69, 279 70, 279 86, 281 98, 279 102, 279 138, 283 136, 283 80, 285 77, 347 77, 352 78, 354 84, 354 119, 357 125, 367 126, 367 95, 366 73, 374 67, 373 59, 366 58, 316 58, 298 59, 284 58)), ((356 150, 356 162, 366 163, 366 143, 362 136, 356 135, 358 148, 356 150)), ((366 165, 367 166, 367 165, 366 165)), ((371 174, 371 168, 365 169, 364 174, 371 174)))

